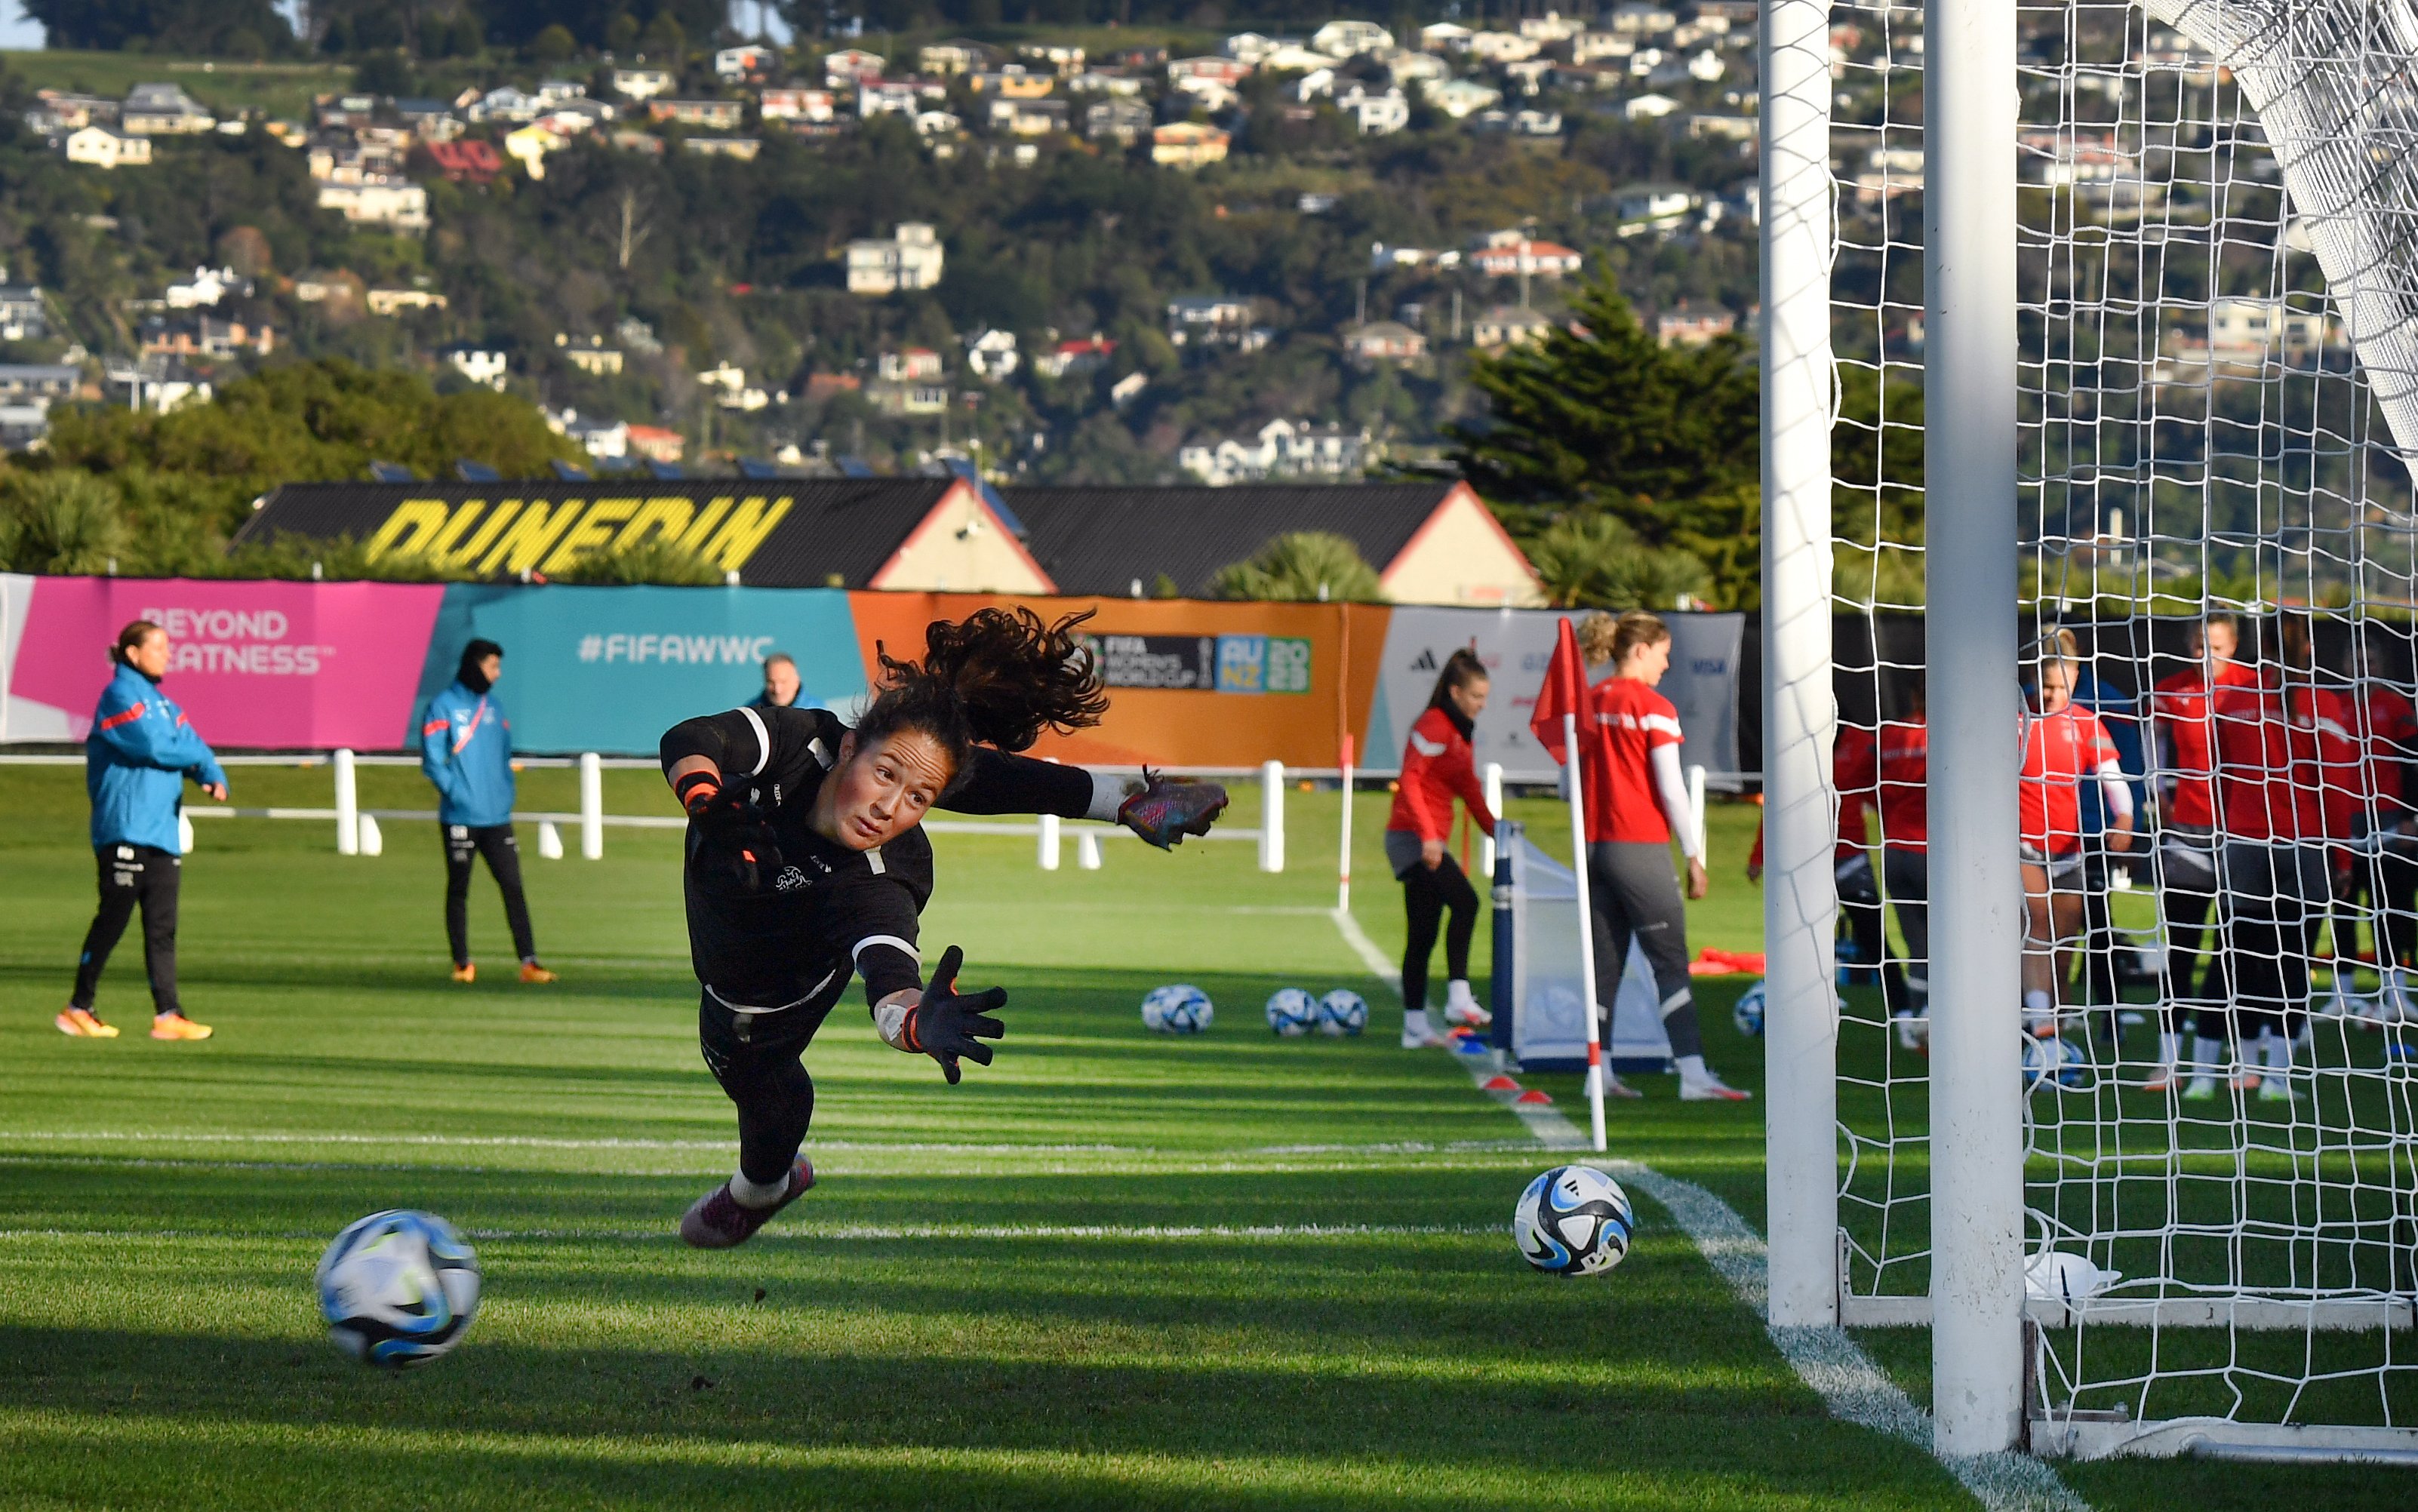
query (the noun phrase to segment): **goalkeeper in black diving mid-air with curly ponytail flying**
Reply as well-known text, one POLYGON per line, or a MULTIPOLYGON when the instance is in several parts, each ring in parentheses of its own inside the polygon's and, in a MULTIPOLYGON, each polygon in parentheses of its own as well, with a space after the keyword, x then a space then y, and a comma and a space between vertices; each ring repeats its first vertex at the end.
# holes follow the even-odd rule
POLYGON ((1045 624, 1023 607, 938 619, 921 660, 880 648, 883 685, 854 728, 829 709, 745 706, 663 735, 663 777, 689 813, 696 1038, 740 1123, 740 1168, 679 1219, 687 1243, 745 1243, 815 1185, 803 1055, 851 977, 866 980, 880 1038, 933 1057, 950 1086, 960 1062, 991 1064, 1006 989, 960 992, 955 946, 926 975, 916 941, 933 890, 929 810, 1091 818, 1168 849, 1226 808, 1216 784, 1016 755, 1107 711, 1076 636, 1086 619, 1045 624))

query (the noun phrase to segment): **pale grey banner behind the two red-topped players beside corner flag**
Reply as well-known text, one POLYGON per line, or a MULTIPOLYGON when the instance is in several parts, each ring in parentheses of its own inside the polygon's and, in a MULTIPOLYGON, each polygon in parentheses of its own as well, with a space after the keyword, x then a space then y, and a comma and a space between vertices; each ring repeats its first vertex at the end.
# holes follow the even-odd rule
MULTIPOLYGON (((1369 709, 1371 767, 1393 767, 1410 726, 1436 689, 1436 673, 1456 648, 1470 646, 1494 675, 1494 689, 1470 738, 1480 769, 1502 762, 1514 781, 1550 781, 1552 757, 1528 733, 1535 694, 1545 687, 1555 624, 1562 610, 1441 610, 1402 605, 1386 631, 1383 675, 1369 709)), ((1577 617, 1577 614, 1572 614, 1577 617)), ((1678 709, 1685 733, 1681 760, 1707 772, 1739 767, 1739 641, 1743 614, 1664 614, 1671 627, 1671 670, 1661 694, 1678 709)), ((1596 680, 1613 668, 1593 668, 1596 680)))

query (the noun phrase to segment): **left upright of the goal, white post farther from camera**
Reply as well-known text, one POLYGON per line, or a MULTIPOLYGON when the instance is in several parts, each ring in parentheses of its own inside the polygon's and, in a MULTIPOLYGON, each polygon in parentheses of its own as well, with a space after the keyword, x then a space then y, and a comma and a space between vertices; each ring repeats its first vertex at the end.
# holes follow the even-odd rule
POLYGON ((1763 7, 1763 1202, 1770 1323, 1838 1323, 1830 5, 1763 7))

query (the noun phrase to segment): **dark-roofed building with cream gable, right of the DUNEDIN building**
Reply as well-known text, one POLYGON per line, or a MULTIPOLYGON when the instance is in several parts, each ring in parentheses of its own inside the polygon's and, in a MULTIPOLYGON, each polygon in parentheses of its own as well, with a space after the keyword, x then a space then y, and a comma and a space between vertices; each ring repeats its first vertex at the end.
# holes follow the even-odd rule
POLYGON ((1141 598, 1161 573, 1207 598, 1219 569, 1272 537, 1352 539, 1402 605, 1540 607, 1535 569, 1477 491, 1431 484, 1001 489, 1059 593, 1141 598))

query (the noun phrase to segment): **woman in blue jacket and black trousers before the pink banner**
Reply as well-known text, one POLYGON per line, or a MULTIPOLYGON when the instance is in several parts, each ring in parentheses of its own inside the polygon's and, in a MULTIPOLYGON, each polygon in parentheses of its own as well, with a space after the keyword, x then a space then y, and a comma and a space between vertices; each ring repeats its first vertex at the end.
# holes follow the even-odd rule
POLYGON ((177 818, 184 806, 184 781, 227 801, 227 772, 193 733, 184 709, 160 692, 167 677, 167 631, 150 619, 135 619, 118 631, 109 651, 118 663, 102 704, 92 711, 85 735, 85 791, 92 796, 92 854, 102 873, 102 907, 85 931, 85 953, 75 960, 75 992, 53 1018, 60 1033, 82 1040, 114 1040, 114 1023, 92 1011, 102 968, 126 934, 135 907, 143 910, 143 965, 152 982, 152 1038, 208 1040, 210 1026, 193 1023, 177 1004, 177 883, 184 873, 184 844, 177 818))

